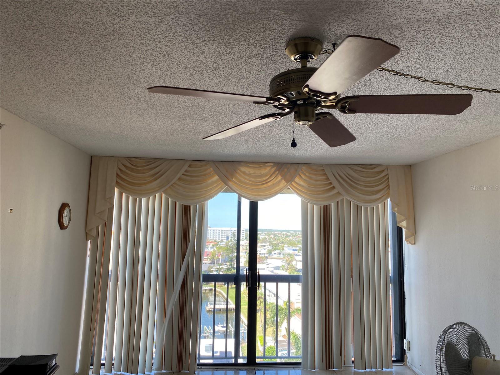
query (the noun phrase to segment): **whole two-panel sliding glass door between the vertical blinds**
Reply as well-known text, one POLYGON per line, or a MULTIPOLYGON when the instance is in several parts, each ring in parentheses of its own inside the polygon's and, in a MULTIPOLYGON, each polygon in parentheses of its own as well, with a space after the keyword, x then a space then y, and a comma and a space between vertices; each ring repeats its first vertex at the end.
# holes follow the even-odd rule
POLYGON ((198 363, 300 362, 300 198, 208 202, 198 363))

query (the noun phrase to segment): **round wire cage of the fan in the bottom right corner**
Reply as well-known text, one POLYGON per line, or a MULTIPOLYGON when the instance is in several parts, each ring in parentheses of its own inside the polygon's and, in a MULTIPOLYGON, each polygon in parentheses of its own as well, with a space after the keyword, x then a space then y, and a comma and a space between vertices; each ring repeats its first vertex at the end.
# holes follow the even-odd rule
POLYGON ((436 373, 472 375, 471 362, 475 356, 491 357, 489 346, 482 334, 463 321, 448 325, 437 340, 436 373))

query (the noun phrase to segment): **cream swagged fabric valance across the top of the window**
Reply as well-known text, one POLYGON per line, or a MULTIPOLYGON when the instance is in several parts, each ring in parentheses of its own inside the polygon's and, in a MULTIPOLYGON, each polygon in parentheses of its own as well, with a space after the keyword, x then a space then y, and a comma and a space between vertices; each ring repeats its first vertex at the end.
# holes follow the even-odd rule
POLYGON ((289 187, 308 203, 323 205, 343 197, 361 206, 390 198, 407 243, 414 243, 413 193, 409 165, 293 164, 193 161, 92 156, 87 239, 106 221, 114 189, 134 197, 162 192, 183 204, 207 201, 225 186, 249 200, 264 200, 289 187))

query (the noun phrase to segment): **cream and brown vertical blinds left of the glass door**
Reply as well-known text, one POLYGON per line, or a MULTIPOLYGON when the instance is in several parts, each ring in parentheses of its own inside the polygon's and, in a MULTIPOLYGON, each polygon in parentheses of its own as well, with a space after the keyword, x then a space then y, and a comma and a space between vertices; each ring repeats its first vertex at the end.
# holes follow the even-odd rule
MULTIPOLYGON (((127 170, 136 173, 144 164, 131 165, 127 170)), ((164 165, 154 161, 145 165, 147 173, 139 173, 144 181, 145 175, 163 175, 164 165)), ((106 221, 97 226, 96 237, 90 241, 78 373, 89 373, 92 345, 93 374, 100 373, 101 354, 104 373, 151 372, 158 351, 159 369, 193 372, 205 203, 184 205, 161 192, 136 198, 116 189, 112 195, 114 207, 107 209, 106 221), (186 256, 189 243, 194 251, 186 256), (183 261, 188 263, 182 277, 183 261), (177 279, 182 281, 179 297, 174 298, 161 341, 159 329, 177 279)))

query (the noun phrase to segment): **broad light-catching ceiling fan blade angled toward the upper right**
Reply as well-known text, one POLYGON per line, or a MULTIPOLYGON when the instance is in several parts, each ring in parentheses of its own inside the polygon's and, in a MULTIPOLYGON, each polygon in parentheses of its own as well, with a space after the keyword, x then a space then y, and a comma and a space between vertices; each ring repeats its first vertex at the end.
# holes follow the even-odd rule
POLYGON ((399 47, 382 39, 347 36, 312 74, 304 87, 337 95, 398 52, 399 47))

